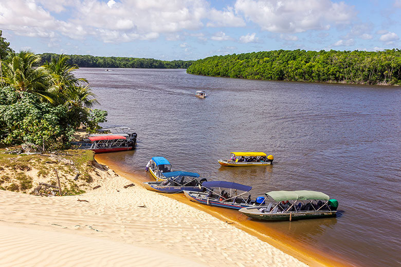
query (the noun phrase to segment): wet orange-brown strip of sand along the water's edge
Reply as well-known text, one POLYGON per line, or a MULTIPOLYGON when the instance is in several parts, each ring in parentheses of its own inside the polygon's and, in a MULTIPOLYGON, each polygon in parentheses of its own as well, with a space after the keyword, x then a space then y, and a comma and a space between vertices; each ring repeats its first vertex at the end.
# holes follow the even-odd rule
MULTIPOLYGON (((115 164, 111 160, 107 159, 106 157, 102 157, 100 155, 95 155, 95 159, 97 162, 100 164, 107 165, 113 171, 115 171, 116 174, 124 177, 127 180, 130 180, 132 182, 142 185, 143 182, 149 181, 150 179, 147 177, 144 177, 140 174, 137 173, 129 173, 127 171, 124 171, 118 164, 115 164)), ((156 193, 160 194, 160 193, 156 193)), ((204 213, 207 213, 214 218, 217 218, 220 221, 226 222, 226 223, 232 223, 234 227, 246 232, 247 234, 257 237, 259 240, 266 242, 274 247, 276 249, 284 252, 287 255, 293 256, 296 259, 300 260, 301 262, 307 264, 308 266, 315 266, 315 267, 331 267, 331 266, 341 266, 341 267, 346 267, 346 266, 356 266, 354 264, 351 264, 345 260, 340 261, 337 258, 331 257, 330 255, 322 255, 322 253, 312 247, 306 247, 304 244, 297 243, 295 240, 289 241, 288 237, 276 232, 274 235, 271 235, 272 233, 270 232, 270 235, 260 233, 255 225, 252 223, 252 221, 248 220, 247 217, 244 215, 239 214, 238 212, 231 210, 231 209, 224 209, 224 212, 222 213, 222 209, 218 207, 211 207, 211 206, 206 206, 202 205, 199 203, 195 203, 190 201, 188 198, 183 196, 182 194, 160 194, 162 196, 166 196, 171 199, 175 199, 181 203, 187 204, 191 207, 194 207, 198 209, 199 211, 202 211, 204 213), (249 222, 249 223, 247 223, 249 222)), ((274 230, 273 230, 274 231, 274 230)))

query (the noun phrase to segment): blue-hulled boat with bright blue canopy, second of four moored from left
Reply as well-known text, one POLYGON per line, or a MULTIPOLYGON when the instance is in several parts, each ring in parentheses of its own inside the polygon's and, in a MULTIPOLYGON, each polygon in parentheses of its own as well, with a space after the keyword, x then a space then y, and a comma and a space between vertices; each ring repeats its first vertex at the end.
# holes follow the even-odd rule
POLYGON ((183 190, 192 192, 199 192, 204 190, 203 182, 207 181, 205 178, 198 180, 199 174, 189 173, 188 171, 171 171, 170 173, 163 173, 166 180, 159 182, 146 182, 143 183, 148 190, 160 193, 180 193, 183 190))

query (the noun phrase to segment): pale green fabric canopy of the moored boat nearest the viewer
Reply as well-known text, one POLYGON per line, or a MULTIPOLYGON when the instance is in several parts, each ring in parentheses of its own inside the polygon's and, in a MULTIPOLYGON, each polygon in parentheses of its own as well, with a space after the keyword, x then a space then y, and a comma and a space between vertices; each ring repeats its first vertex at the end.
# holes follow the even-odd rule
POLYGON ((265 193, 266 196, 271 197, 275 201, 287 201, 287 200, 329 200, 329 196, 324 193, 309 191, 309 190, 298 190, 298 191, 270 191, 265 193))

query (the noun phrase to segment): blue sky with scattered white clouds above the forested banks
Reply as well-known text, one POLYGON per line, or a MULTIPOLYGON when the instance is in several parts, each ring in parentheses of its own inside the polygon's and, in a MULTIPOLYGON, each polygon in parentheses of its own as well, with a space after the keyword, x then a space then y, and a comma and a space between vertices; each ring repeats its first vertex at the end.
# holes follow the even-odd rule
POLYGON ((0 0, 15 51, 197 60, 401 48, 401 0, 0 0))

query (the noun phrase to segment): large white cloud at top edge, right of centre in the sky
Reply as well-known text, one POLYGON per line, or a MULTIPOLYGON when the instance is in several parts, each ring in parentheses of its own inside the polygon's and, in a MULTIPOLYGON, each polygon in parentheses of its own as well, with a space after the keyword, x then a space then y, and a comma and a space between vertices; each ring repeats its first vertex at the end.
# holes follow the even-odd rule
POLYGON ((271 32, 327 30, 331 23, 350 23, 355 14, 353 7, 330 0, 236 0, 234 7, 271 32))

